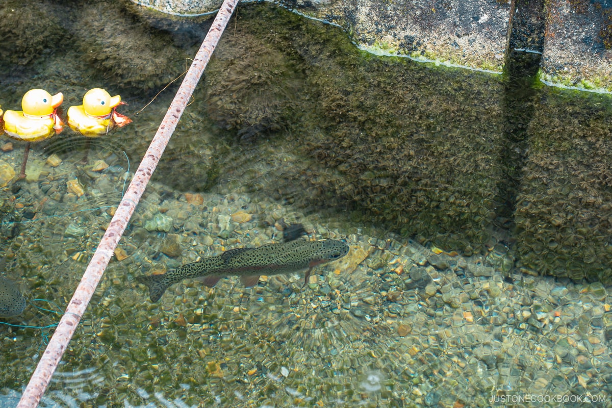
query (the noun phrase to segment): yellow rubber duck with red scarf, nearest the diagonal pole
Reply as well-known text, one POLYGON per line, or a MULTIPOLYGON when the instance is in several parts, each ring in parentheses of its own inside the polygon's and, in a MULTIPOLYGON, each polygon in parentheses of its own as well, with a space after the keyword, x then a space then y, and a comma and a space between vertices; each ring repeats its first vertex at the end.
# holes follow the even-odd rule
POLYGON ((83 96, 83 105, 68 108, 68 124, 72 130, 88 138, 106 135, 114 127, 132 122, 116 111, 123 103, 120 95, 111 97, 104 89, 89 89, 83 96))

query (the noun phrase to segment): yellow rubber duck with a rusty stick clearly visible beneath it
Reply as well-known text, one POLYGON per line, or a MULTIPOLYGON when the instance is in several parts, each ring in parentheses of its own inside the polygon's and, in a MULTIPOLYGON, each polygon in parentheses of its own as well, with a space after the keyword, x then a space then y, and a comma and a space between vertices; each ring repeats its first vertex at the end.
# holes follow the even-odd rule
POLYGON ((43 89, 30 89, 21 98, 23 111, 4 113, 4 133, 10 138, 28 142, 21 163, 20 179, 26 177, 30 143, 50 138, 62 131, 64 124, 56 113, 62 102, 64 95, 61 92, 51 95, 43 89))

